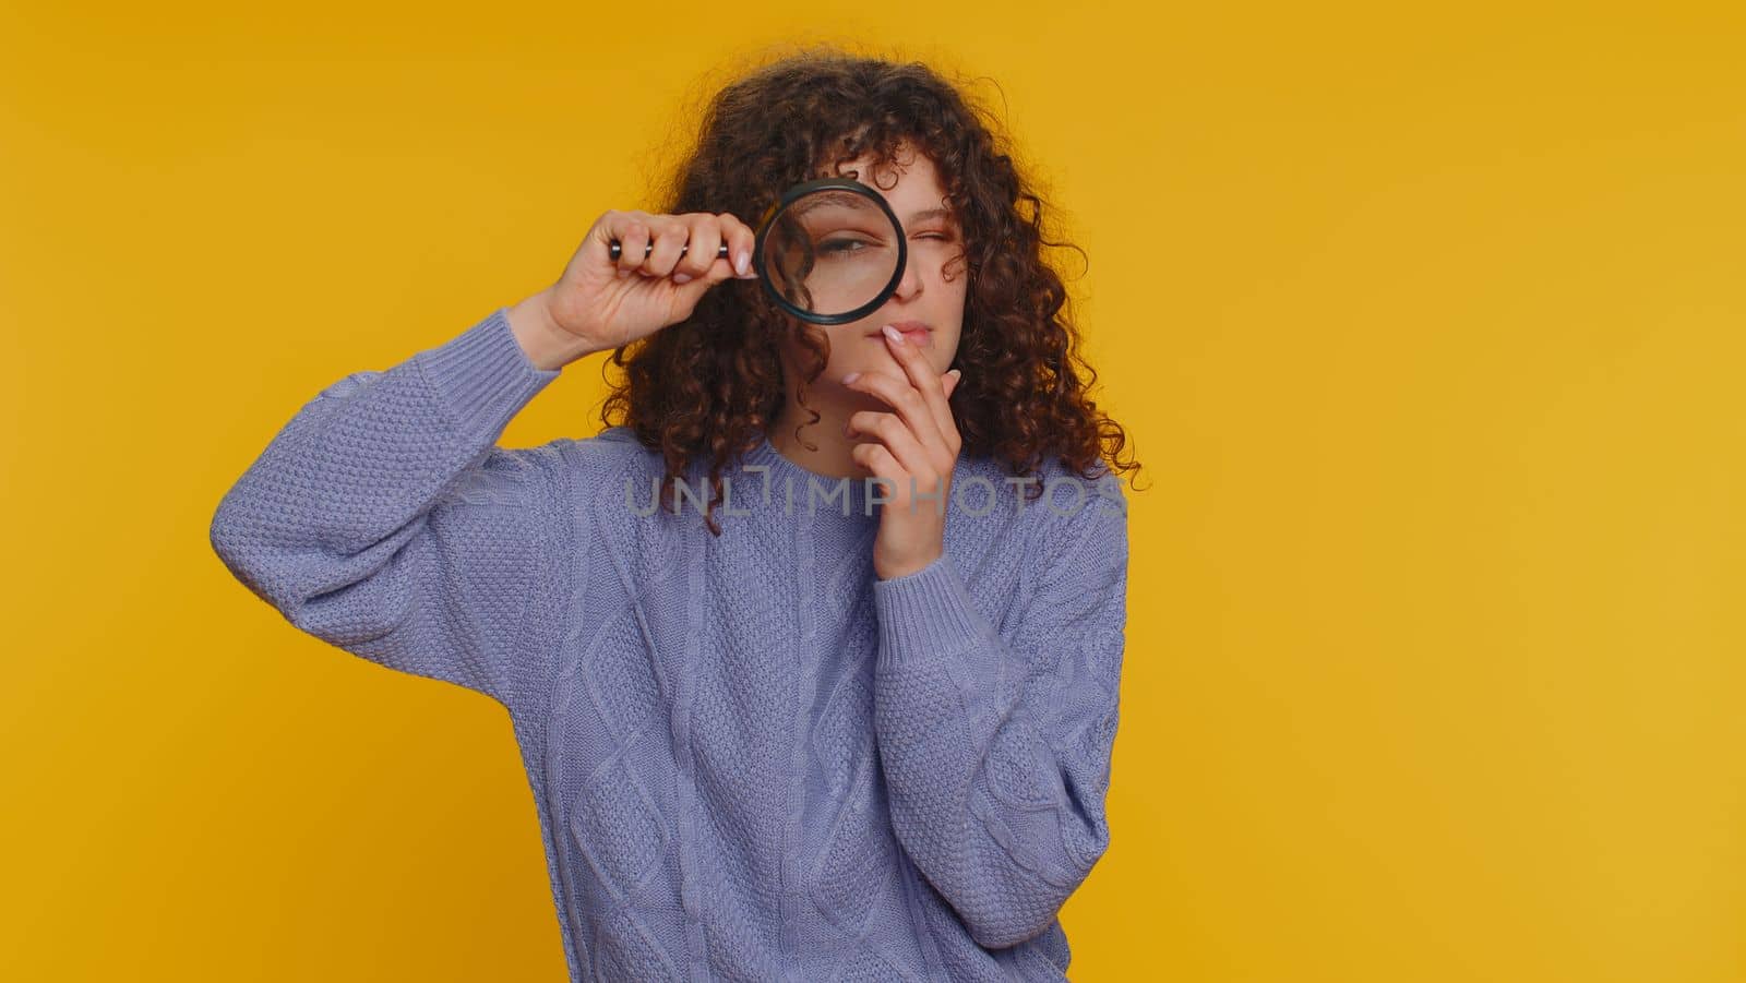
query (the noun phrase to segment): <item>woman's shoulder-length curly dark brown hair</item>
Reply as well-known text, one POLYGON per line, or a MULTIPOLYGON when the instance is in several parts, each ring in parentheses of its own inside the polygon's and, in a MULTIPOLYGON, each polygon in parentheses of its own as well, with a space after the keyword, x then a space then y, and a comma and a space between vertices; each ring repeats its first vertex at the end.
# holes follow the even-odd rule
MULTIPOLYGON (((1086 396, 1096 372, 1081 358, 1067 288, 1042 253, 1084 250, 1049 237, 1053 215, 1020 173, 993 113, 964 89, 920 61, 808 47, 719 89, 695 133, 656 189, 658 211, 756 217, 787 187, 836 176, 842 162, 868 155, 883 169, 903 147, 925 154, 959 215, 969 269, 952 361, 962 368, 950 400, 960 454, 1037 478, 1048 456, 1084 480, 1098 477, 1098 464, 1140 466, 1119 459, 1123 428, 1086 396)), ((609 365, 622 379, 608 381, 602 423, 629 426, 662 452, 660 499, 672 508, 676 482, 707 456, 712 498, 704 515, 718 536, 723 468, 756 447, 784 409, 784 340, 808 361, 796 391, 817 423, 805 393, 824 372, 828 335, 770 304, 756 279, 726 279, 684 321, 613 349, 609 365)), ((1041 480, 1032 491, 1041 494, 1041 480)))

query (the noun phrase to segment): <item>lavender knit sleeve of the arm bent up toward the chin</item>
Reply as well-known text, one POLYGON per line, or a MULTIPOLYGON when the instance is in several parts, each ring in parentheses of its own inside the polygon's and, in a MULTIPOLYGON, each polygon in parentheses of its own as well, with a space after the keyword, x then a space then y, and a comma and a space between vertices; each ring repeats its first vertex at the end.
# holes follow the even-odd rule
POLYGON ((1049 519, 1027 557, 1037 587, 1006 636, 950 553, 873 587, 892 826, 985 948, 1048 929, 1109 845, 1128 522, 1119 482, 1100 482, 1049 519))

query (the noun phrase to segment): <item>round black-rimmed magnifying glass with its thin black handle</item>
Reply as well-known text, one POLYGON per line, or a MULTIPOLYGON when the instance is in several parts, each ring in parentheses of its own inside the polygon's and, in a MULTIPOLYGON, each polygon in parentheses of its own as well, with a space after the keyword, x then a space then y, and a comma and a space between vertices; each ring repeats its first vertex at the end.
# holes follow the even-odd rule
MULTIPOLYGON (((643 255, 653 250, 650 243, 643 255)), ((616 239, 609 251, 616 260, 616 239)), ((726 258, 728 244, 716 255, 726 258)), ((819 178, 782 192, 758 218, 753 246, 753 269, 770 300, 814 325, 847 325, 876 311, 897 292, 908 258, 897 213, 852 178, 819 178)))

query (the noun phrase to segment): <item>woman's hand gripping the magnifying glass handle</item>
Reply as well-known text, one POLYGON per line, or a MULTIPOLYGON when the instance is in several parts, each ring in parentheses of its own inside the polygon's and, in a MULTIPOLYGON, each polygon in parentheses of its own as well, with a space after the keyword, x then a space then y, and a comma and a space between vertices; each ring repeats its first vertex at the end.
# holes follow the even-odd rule
POLYGON ((686 320, 723 279, 758 279, 754 239, 751 227, 726 211, 608 211, 594 220, 559 281, 536 297, 566 342, 583 354, 608 351, 686 320), (611 258, 613 239, 618 260, 611 258), (651 241, 655 248, 648 250, 651 241), (718 257, 721 243, 732 264, 718 257))

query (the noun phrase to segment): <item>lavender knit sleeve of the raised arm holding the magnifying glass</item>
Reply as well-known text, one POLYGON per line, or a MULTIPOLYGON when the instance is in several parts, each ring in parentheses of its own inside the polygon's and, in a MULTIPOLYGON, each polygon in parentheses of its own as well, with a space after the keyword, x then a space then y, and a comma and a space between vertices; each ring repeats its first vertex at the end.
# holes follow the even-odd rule
POLYGON ((545 676, 524 622, 553 609, 560 567, 543 550, 560 442, 494 440, 557 375, 527 358, 499 307, 388 370, 337 381, 223 494, 213 550, 304 632, 512 705, 545 676))

